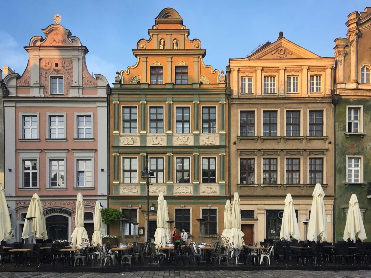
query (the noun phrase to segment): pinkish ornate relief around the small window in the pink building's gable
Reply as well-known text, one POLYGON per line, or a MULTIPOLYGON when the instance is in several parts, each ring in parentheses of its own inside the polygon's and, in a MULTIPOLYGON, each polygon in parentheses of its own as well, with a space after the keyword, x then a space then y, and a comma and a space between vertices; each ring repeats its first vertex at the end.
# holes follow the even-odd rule
POLYGON ((64 75, 64 96, 68 96, 73 82, 72 59, 54 58, 40 60, 40 86, 44 87, 44 95, 50 95, 49 83, 51 75, 64 75), (58 63, 58 67, 56 67, 58 63))

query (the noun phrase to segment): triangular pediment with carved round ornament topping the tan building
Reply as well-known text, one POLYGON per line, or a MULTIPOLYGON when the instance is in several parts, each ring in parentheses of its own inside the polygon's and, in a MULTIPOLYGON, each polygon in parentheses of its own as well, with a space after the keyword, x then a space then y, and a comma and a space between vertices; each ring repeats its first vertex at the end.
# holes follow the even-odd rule
POLYGON ((287 58, 320 58, 309 50, 281 38, 276 42, 255 52, 248 59, 287 59, 287 58))

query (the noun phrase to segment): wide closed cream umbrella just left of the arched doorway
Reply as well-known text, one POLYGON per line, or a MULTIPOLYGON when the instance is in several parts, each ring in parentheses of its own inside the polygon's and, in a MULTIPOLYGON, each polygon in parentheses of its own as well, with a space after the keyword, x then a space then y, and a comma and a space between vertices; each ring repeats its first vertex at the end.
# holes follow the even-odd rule
MULTIPOLYGON (((39 239, 48 239, 48 234, 46 231, 45 225, 45 217, 43 212, 43 206, 41 205, 40 197, 36 193, 32 196, 30 205, 28 206, 26 218, 35 217, 34 218, 34 230, 35 230, 35 238, 39 239)), ((30 224, 32 221, 28 221, 23 226, 22 231, 22 238, 28 238, 30 233, 30 224)), ((32 232, 32 229, 31 229, 32 232)))

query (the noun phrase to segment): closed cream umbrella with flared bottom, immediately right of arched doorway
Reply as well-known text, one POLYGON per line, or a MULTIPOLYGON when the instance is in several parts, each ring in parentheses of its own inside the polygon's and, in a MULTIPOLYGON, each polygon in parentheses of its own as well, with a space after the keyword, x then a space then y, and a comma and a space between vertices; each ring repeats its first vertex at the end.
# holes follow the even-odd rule
POLYGON ((75 224, 76 228, 71 235, 71 248, 84 248, 89 245, 89 237, 84 228, 84 200, 82 193, 77 194, 75 224))

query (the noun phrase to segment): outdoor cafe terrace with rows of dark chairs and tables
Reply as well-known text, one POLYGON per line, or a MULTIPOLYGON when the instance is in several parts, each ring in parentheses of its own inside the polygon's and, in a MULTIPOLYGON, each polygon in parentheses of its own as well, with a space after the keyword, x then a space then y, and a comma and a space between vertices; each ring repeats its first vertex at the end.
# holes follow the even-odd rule
MULTIPOLYGON (((49 240, 50 241, 50 240, 49 240)), ((0 271, 125 272, 152 268, 194 270, 209 267, 234 270, 371 269, 371 243, 273 241, 246 244, 236 253, 222 241, 189 242, 178 250, 151 243, 118 247, 71 248, 68 243, 5 243, 0 247, 0 271)))

